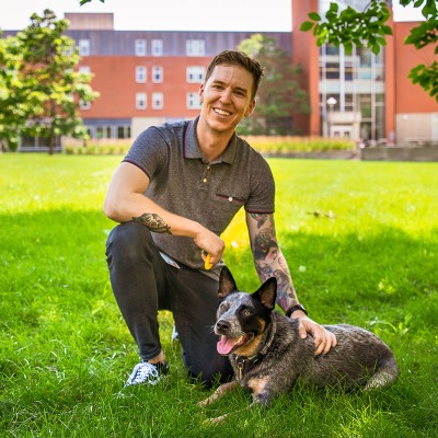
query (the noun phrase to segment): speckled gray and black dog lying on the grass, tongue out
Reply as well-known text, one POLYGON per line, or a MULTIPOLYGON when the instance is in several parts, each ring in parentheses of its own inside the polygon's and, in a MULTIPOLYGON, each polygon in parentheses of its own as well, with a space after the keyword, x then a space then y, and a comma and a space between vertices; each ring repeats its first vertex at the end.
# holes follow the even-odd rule
POLYGON ((235 380, 220 385, 200 406, 239 385, 252 392, 254 405, 268 404, 278 394, 290 391, 298 380, 316 387, 367 391, 390 384, 399 377, 388 345, 360 327, 324 325, 336 335, 337 345, 326 355, 315 356, 313 337, 308 334, 302 339, 298 321, 274 310, 275 278, 250 295, 238 290, 230 270, 223 267, 218 295, 221 302, 214 326, 219 336, 217 349, 229 356, 235 380))

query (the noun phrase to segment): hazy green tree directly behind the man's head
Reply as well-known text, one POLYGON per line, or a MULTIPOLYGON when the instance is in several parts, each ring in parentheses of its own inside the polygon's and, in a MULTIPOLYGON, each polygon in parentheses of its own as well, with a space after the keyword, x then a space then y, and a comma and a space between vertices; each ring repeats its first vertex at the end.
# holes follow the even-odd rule
POLYGON ((291 57, 273 37, 255 34, 238 48, 265 66, 254 114, 241 123, 240 132, 292 134, 291 115, 310 112, 309 96, 298 83, 302 69, 292 66, 291 57))

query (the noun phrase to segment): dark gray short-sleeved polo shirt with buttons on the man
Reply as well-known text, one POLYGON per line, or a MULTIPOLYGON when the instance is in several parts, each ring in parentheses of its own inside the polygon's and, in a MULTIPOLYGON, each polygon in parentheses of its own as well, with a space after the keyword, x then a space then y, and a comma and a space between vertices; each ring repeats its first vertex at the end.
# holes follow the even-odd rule
MULTIPOLYGON (((124 161, 148 175, 150 184, 145 195, 217 235, 241 207, 247 212, 274 212, 275 185, 266 160, 234 134, 223 154, 207 162, 196 137, 197 122, 198 117, 152 126, 134 141, 124 161)), ((157 246, 176 262, 204 270, 200 250, 193 239, 152 235, 157 246)), ((205 273, 217 278, 219 267, 205 273)))

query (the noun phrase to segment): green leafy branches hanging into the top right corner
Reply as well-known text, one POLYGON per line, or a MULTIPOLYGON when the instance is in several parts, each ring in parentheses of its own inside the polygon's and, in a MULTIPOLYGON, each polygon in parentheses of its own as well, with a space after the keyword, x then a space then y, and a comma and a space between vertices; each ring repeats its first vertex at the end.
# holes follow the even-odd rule
MULTIPOLYGON (((316 12, 309 13, 310 21, 301 24, 300 30, 309 32, 313 30, 316 44, 333 44, 336 47, 344 46, 346 54, 350 54, 353 45, 368 46, 372 53, 379 54, 387 44, 385 37, 392 35, 392 28, 387 24, 391 16, 390 1, 371 0, 364 11, 357 11, 351 7, 341 10, 337 3, 330 3, 325 13, 325 20, 316 12)), ((403 7, 413 4, 422 8, 422 14, 426 19, 412 28, 405 44, 412 44, 420 49, 427 45, 435 46, 435 55, 438 55, 438 7, 436 0, 400 0, 403 7)), ((429 65, 420 64, 414 67, 410 74, 413 83, 418 83, 430 96, 438 102, 438 62, 431 60, 429 65)))

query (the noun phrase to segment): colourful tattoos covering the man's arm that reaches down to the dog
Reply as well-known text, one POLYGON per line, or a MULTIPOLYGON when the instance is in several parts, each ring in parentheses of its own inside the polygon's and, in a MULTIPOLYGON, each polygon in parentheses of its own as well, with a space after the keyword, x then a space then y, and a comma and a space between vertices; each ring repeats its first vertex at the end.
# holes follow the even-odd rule
POLYGON ((254 237, 252 249, 255 268, 262 281, 269 277, 277 279, 277 302, 281 309, 286 310, 290 306, 290 301, 297 301, 286 258, 278 247, 274 224, 268 221, 267 216, 257 220, 257 228, 260 231, 254 237))

